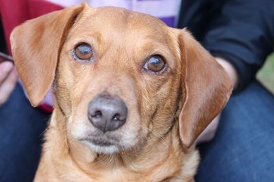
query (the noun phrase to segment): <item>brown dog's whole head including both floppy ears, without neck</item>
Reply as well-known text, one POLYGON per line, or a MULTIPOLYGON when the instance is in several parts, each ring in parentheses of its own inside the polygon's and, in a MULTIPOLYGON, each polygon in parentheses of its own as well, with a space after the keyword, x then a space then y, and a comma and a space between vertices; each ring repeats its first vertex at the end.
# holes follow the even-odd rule
POLYGON ((53 85, 67 136, 98 153, 162 138, 179 123, 184 147, 221 111, 229 77, 188 31, 116 7, 69 7, 12 32, 33 106, 53 85))

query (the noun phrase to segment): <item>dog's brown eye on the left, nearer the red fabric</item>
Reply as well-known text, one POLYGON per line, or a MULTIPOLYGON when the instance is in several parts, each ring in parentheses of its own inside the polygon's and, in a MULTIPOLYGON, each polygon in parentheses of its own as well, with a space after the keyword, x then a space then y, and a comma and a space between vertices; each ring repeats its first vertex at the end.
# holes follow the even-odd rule
POLYGON ((92 48, 89 44, 82 43, 74 48, 74 53, 78 59, 89 60, 92 57, 92 48))

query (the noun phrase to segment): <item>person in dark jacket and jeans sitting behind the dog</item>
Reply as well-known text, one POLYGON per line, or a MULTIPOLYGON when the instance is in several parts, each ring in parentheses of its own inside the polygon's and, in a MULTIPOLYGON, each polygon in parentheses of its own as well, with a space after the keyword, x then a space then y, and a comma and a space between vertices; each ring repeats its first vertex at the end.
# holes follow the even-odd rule
MULTIPOLYGON (((13 27, 73 2, 76 1, 0 0, 8 49, 13 27), (16 8, 9 9, 14 5, 16 8)), ((90 1, 94 6, 147 10, 170 26, 175 26, 177 20, 177 27, 188 27, 232 78, 234 95, 221 117, 214 119, 198 138, 197 142, 204 142, 214 136, 210 142, 198 145, 201 164, 196 181, 273 181, 274 97, 255 75, 274 48, 274 1, 182 0, 178 6, 176 0, 162 0, 162 9, 146 6, 143 10, 138 9, 144 7, 138 3, 156 5, 159 1, 117 2, 90 1), (167 7, 179 7, 179 13, 167 7), (173 14, 164 14, 169 11, 173 14)), ((0 181, 32 181, 49 115, 29 105, 15 80, 12 64, 0 63, 0 181)))

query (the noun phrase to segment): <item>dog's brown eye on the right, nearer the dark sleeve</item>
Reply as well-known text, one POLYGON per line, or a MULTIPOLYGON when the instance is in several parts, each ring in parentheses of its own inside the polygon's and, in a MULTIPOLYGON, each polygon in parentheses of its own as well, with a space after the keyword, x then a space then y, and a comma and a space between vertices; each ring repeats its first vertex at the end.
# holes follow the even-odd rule
POLYGON ((166 67, 166 61, 160 55, 153 55, 147 59, 144 69, 159 73, 166 67))

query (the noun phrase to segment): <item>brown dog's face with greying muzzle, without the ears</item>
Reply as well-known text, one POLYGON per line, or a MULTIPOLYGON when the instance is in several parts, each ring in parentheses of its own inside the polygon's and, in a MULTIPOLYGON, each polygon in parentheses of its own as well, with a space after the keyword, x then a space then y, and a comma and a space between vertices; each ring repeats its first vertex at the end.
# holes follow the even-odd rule
POLYGON ((82 13, 56 73, 57 98, 64 101, 58 103, 73 138, 114 153, 171 130, 181 61, 170 31, 156 18, 112 7, 82 13))

